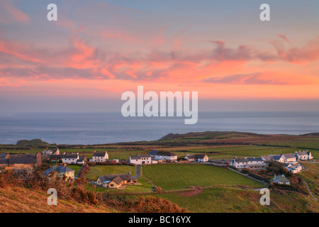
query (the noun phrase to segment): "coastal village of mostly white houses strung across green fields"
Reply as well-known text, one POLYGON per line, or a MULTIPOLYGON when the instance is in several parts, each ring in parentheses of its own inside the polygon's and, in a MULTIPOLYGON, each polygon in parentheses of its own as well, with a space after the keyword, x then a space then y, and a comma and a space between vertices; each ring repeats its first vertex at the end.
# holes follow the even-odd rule
MULTIPOLYGON (((49 164, 43 173, 43 177, 48 177, 52 180, 56 178, 77 179, 80 176, 81 170, 85 165, 131 165, 136 167, 135 176, 131 172, 109 173, 105 172, 99 175, 91 184, 104 189, 123 189, 128 185, 139 185, 140 167, 145 165, 210 165, 213 167, 222 167, 229 170, 235 170, 239 174, 247 174, 257 181, 264 181, 264 178, 256 173, 267 173, 270 166, 280 165, 281 171, 272 172, 272 182, 274 184, 288 184, 291 182, 287 175, 302 172, 304 167, 301 162, 313 159, 310 151, 298 150, 295 153, 286 153, 281 155, 263 155, 261 157, 245 157, 224 160, 209 159, 206 154, 192 154, 178 157, 170 151, 151 150, 147 154, 132 155, 129 160, 110 160, 108 152, 92 152, 92 158, 87 159, 86 156, 80 153, 60 153, 59 148, 55 150, 46 148, 42 153, 1 153, 0 154, 0 171, 11 171, 18 179, 28 179, 36 168, 41 167, 44 163, 49 164), (275 164, 274 164, 275 163, 275 164), (81 166, 77 174, 72 169, 74 165, 81 166)), ((273 170, 274 168, 272 168, 273 170)), ((267 181, 266 181, 267 182, 267 181)))

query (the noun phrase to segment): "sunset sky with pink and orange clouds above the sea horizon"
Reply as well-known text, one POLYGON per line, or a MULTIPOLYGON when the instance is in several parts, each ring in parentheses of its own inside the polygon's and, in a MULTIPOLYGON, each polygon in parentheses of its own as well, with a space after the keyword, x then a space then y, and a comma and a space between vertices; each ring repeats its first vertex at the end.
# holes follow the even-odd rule
POLYGON ((0 6, 0 112, 121 111, 140 85, 198 92, 202 111, 319 111, 317 0, 0 6))

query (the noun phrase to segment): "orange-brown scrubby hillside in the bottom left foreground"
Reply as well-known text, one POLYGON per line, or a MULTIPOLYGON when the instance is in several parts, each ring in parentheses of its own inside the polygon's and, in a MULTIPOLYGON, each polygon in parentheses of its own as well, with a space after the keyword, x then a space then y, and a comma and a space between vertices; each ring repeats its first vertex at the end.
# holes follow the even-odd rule
POLYGON ((188 212, 167 199, 153 196, 136 198, 111 193, 97 193, 88 189, 83 175, 72 179, 50 180, 41 175, 40 170, 27 180, 17 179, 8 171, 0 174, 0 213, 45 213, 45 212, 142 212, 180 213, 188 212), (47 189, 57 189, 57 206, 47 204, 47 189))

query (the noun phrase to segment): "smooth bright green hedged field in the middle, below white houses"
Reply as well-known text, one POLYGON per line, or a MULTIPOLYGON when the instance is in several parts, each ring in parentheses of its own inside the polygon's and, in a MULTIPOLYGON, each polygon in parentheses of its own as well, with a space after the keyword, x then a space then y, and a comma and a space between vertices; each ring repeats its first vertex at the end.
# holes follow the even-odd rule
POLYGON ((236 172, 211 165, 145 165, 142 172, 147 179, 163 190, 213 185, 263 187, 263 184, 236 172))

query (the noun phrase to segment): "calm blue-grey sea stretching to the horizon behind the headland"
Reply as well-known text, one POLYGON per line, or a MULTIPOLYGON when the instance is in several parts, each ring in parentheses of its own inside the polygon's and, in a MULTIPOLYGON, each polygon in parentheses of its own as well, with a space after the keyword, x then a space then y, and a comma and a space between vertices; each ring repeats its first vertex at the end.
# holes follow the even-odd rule
POLYGON ((57 144, 101 144, 157 140, 168 133, 242 131, 300 135, 319 131, 319 112, 199 112, 184 117, 130 117, 121 113, 0 114, 0 143, 40 138, 57 144))

